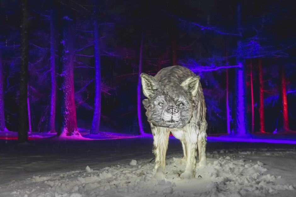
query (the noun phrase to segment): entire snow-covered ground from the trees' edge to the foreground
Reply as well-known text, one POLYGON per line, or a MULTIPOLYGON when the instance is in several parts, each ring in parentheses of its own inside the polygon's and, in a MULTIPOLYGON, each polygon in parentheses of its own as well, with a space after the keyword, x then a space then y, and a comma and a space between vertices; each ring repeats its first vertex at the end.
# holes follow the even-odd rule
POLYGON ((208 165, 181 180, 181 144, 170 138, 157 181, 151 138, 0 140, 0 196, 296 196, 295 147, 208 142, 208 165))

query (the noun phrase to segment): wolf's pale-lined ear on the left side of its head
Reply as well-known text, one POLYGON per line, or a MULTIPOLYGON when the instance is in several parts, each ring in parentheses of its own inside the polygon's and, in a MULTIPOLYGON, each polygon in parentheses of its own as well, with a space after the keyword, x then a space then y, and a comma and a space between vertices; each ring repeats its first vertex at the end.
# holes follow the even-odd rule
POLYGON ((159 88, 158 80, 145 73, 142 73, 140 77, 141 77, 141 82, 143 87, 143 94, 147 98, 152 98, 156 94, 156 91, 159 88))

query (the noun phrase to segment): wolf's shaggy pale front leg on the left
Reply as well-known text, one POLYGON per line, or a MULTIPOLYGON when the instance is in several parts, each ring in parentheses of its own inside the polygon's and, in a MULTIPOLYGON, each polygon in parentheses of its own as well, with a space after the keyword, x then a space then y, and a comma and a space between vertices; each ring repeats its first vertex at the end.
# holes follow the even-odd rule
POLYGON ((155 127, 151 124, 153 134, 153 153, 155 155, 155 175, 156 179, 164 179, 165 156, 168 149, 169 132, 166 128, 155 127))

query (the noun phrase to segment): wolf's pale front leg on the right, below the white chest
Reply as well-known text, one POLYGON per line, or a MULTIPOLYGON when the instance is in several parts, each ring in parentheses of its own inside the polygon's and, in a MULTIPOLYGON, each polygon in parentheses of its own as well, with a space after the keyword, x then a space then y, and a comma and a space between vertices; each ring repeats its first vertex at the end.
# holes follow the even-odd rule
POLYGON ((196 170, 196 159, 197 159, 197 134, 190 134, 186 139, 185 143, 187 163, 185 172, 180 175, 180 178, 194 178, 196 170))

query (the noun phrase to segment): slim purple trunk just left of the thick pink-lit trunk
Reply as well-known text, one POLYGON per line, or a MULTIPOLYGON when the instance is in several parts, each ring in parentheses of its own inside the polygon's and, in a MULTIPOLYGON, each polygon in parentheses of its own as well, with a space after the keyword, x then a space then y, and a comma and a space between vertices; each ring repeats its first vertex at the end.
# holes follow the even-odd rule
POLYGON ((50 114, 49 114, 49 131, 55 133, 55 100, 56 100, 56 77, 55 77, 55 20, 56 15, 54 12, 54 0, 51 2, 50 10, 50 76, 51 76, 51 87, 50 87, 50 114))

